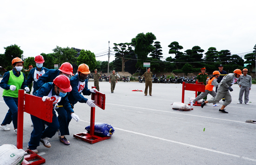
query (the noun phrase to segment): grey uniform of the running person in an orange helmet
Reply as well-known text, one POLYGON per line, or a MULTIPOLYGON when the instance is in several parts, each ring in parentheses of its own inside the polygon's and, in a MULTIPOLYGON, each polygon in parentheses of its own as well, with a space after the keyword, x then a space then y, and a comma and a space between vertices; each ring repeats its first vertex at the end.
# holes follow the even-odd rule
POLYGON ((209 99, 208 102, 216 103, 224 97, 226 101, 224 101, 223 106, 228 106, 232 101, 228 88, 232 86, 236 82, 236 80, 237 78, 234 73, 227 74, 219 84, 217 95, 209 99))

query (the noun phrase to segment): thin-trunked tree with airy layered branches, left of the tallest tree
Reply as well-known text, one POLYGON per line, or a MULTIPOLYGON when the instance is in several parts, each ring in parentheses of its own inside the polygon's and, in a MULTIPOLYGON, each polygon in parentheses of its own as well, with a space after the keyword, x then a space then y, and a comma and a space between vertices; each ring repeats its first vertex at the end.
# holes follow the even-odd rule
POLYGON ((125 62, 132 58, 131 53, 134 52, 132 47, 134 45, 132 43, 114 43, 115 47, 113 47, 115 53, 115 59, 122 59, 122 72, 124 72, 125 62))

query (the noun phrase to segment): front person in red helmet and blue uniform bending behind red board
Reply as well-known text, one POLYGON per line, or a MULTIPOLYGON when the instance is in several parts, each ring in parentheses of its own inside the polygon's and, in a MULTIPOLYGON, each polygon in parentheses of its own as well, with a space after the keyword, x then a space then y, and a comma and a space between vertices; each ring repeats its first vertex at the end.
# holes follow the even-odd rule
MULTIPOLYGON (((68 112, 68 114, 78 122, 79 117, 74 114, 74 111, 67 99, 67 92, 70 92, 71 90, 72 87, 70 86, 70 80, 67 78, 67 76, 59 75, 53 80, 53 83, 46 83, 41 86, 40 89, 35 92, 35 96, 41 97, 43 101, 46 99, 53 100, 54 107, 58 106, 58 104, 63 105, 67 111, 65 111, 63 107, 60 107, 59 109, 62 108, 63 112, 68 112)), ((39 146, 40 142, 42 142, 43 145, 48 148, 51 147, 51 144, 47 139, 54 136, 56 131, 60 128, 60 125, 54 108, 52 123, 48 123, 33 115, 31 115, 31 120, 34 124, 34 130, 31 132, 31 137, 27 148, 34 151, 35 153, 38 153, 36 148, 39 146), (45 130, 44 124, 47 124, 47 128, 45 130)))

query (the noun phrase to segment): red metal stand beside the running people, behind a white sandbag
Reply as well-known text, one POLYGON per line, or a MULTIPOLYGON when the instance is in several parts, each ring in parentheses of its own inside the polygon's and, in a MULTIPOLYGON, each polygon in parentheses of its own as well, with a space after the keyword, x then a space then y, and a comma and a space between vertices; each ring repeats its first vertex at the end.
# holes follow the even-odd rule
MULTIPOLYGON (((205 92, 205 85, 202 82, 195 82, 195 84, 182 83, 182 103, 184 103, 185 90, 187 91, 195 91, 195 98, 197 97, 197 92, 205 92)), ((190 105, 190 104, 189 104, 190 105)), ((197 101, 193 106, 201 106, 201 104, 197 104, 197 101)))

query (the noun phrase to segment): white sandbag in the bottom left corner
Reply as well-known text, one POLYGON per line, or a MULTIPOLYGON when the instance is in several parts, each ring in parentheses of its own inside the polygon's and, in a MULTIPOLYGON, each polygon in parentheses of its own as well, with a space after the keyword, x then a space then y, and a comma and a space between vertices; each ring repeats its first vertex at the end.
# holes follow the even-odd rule
POLYGON ((18 149, 15 145, 1 145, 0 165, 21 165, 26 154, 27 152, 18 149))

